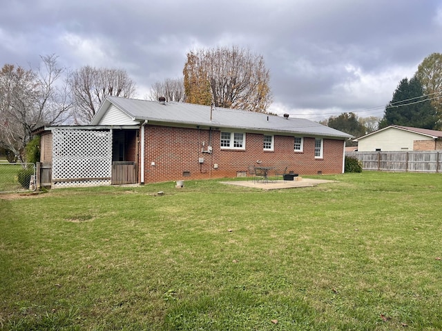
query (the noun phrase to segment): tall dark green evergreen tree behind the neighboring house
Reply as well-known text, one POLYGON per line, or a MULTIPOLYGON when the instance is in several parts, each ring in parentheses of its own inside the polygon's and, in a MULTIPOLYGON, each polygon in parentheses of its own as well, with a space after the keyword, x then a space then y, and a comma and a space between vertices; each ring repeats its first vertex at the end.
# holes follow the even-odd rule
POLYGON ((379 128, 391 125, 432 130, 438 128, 436 110, 424 96, 422 84, 416 77, 402 79, 394 91, 392 101, 385 106, 379 128))

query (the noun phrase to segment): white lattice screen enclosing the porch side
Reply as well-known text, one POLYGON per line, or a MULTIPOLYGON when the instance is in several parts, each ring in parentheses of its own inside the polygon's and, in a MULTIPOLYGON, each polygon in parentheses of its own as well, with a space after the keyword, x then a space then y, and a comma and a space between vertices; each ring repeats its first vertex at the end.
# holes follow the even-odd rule
POLYGON ((111 185, 111 171, 112 132, 52 130, 55 187, 111 185))

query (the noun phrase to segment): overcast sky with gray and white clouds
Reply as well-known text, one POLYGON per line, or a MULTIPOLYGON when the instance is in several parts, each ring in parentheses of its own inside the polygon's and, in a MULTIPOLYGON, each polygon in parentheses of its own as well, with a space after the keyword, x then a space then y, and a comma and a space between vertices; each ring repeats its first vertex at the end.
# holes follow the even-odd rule
POLYGON ((0 66, 122 68, 144 99, 182 77, 189 50, 240 46, 264 57, 269 109, 320 121, 383 116, 401 79, 442 52, 441 0, 8 0, 0 66))

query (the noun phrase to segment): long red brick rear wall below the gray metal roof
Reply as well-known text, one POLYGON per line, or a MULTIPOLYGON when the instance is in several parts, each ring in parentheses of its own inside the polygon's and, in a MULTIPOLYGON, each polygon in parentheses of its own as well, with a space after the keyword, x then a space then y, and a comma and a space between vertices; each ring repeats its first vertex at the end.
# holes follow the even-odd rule
MULTIPOLYGON (((263 151, 263 134, 246 133, 246 150, 221 150, 220 130, 145 126, 144 182, 236 177, 248 165, 284 167, 303 174, 337 174, 343 170, 343 141, 324 139, 323 159, 314 157, 314 138, 294 152, 294 137, 274 137, 274 151, 263 151), (202 152, 210 144, 211 154, 202 152), (205 146, 202 146, 204 141, 205 146), (199 163, 200 157, 204 163, 199 163), (152 165, 152 162, 155 165, 152 165), (218 169, 214 164, 218 164, 218 169), (190 174, 186 176, 185 174, 190 174)), ((141 154, 140 154, 141 155, 141 154)), ((141 166, 140 166, 141 169, 141 166)))

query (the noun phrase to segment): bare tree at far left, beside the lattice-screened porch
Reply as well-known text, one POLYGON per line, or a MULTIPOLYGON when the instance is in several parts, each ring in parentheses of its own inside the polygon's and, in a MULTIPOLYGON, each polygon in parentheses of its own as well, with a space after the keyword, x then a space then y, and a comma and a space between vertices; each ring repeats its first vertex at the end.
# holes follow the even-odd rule
POLYGON ((0 72, 0 148, 24 161, 24 148, 32 130, 68 119, 70 103, 58 86, 63 69, 57 57, 41 57, 44 68, 26 70, 11 64, 0 72))

